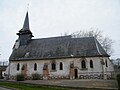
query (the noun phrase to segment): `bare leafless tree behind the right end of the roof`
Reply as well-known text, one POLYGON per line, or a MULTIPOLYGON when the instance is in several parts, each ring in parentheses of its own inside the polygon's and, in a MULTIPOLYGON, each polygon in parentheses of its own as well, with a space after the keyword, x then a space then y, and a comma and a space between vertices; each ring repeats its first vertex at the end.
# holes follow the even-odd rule
POLYGON ((95 37, 109 55, 113 53, 112 52, 113 51, 112 49, 113 40, 107 36, 103 36, 102 31, 98 29, 91 28, 91 30, 89 31, 80 30, 80 31, 72 33, 71 35, 73 38, 95 37))

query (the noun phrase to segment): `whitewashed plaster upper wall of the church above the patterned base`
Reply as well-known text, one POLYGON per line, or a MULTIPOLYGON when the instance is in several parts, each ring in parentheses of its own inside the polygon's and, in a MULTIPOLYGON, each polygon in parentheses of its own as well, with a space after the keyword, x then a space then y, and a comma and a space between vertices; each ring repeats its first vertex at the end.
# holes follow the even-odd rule
MULTIPOLYGON (((103 65, 104 71, 114 71, 113 65, 110 62, 110 59, 105 57, 103 60, 107 59, 108 62, 108 67, 106 65, 103 65)), ((21 67, 23 64, 27 64, 27 74, 31 75, 32 73, 39 73, 43 74, 43 66, 44 63, 48 64, 49 68, 49 74, 50 75, 60 75, 60 76, 65 76, 69 75, 69 69, 70 69, 70 63, 74 62, 74 67, 78 69, 78 73, 88 73, 88 72, 102 72, 102 65, 100 63, 100 58, 99 57, 88 57, 86 58, 86 70, 81 69, 81 58, 67 58, 67 59, 54 59, 56 62, 56 71, 51 70, 51 61, 52 60, 30 60, 30 61, 12 61, 10 63, 10 75, 15 76, 18 73, 21 73, 21 67), (90 60, 93 60, 93 68, 90 68, 90 60), (60 62, 63 63, 63 70, 59 70, 59 64, 60 62), (17 64, 20 64, 20 70, 17 71, 17 64), (34 64, 37 64, 37 70, 34 71, 34 64)), ((9 67, 8 67, 9 68, 9 67)), ((9 69, 7 69, 7 72, 9 69)), ((6 73, 7 73, 6 72, 6 73)))

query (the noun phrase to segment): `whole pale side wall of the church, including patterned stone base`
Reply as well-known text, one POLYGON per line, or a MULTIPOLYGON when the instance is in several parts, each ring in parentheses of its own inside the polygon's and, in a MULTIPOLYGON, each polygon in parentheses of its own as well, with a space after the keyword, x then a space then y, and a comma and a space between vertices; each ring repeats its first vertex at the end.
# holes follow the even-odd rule
MULTIPOLYGON (((111 72, 114 71, 113 65, 110 62, 109 58, 103 58, 103 64, 101 64, 101 59, 99 57, 89 57, 89 58, 67 58, 67 59, 50 59, 50 60, 22 60, 22 61, 11 61, 10 68, 7 68, 6 74, 10 76, 15 76, 21 73, 23 66, 26 65, 26 75, 31 77, 33 73, 38 73, 44 77, 44 74, 47 73, 46 79, 54 78, 66 78, 66 79, 103 79, 106 75, 111 77, 111 72), (81 62, 85 60, 86 68, 82 68, 81 62), (90 68, 90 60, 93 61, 93 68, 90 68), (107 60, 107 67, 105 64, 107 60), (52 70, 51 63, 55 62, 56 69, 52 70), (60 62, 63 64, 63 70, 60 70, 60 62), (17 70, 17 64, 20 64, 19 70, 17 70), (34 64, 37 64, 37 70, 34 70, 34 64), (70 65, 73 64, 71 68, 70 65), (44 65, 47 65, 47 69, 44 69, 44 65), (71 68, 71 69, 70 69, 71 68), (74 70, 76 69, 76 72, 74 70), (45 71, 47 70, 47 71, 45 71), (70 71, 73 70, 73 71, 70 71), (75 73, 77 74, 75 76, 75 73), (72 75, 72 76, 71 76, 72 75)), ((42 77, 42 79, 43 79, 42 77)))

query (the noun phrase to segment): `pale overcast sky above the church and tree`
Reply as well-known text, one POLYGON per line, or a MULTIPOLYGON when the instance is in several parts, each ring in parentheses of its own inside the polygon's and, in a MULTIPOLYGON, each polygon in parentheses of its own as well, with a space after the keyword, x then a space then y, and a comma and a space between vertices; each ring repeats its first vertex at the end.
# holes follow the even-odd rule
POLYGON ((8 60, 29 3, 34 38, 98 28, 113 41, 120 58, 120 0, 0 0, 0 60, 8 60))

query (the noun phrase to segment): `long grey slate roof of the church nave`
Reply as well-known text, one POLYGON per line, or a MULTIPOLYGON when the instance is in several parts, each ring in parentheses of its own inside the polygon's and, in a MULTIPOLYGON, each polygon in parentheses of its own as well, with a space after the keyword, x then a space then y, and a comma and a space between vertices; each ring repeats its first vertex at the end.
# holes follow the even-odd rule
POLYGON ((13 49, 9 60, 96 56, 109 57, 94 37, 71 38, 71 36, 61 36, 31 39, 28 45, 13 49))

